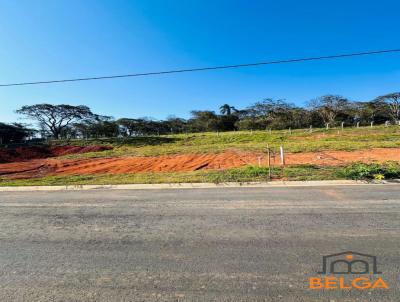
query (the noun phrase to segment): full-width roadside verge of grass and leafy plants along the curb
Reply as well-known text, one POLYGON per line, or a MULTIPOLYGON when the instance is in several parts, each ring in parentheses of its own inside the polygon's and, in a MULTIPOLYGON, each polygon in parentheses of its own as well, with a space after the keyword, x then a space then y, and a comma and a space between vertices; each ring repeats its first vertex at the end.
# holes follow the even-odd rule
POLYGON ((264 182, 269 180, 382 180, 400 178, 400 164, 354 163, 346 167, 297 165, 274 167, 269 178, 267 167, 247 166, 228 170, 194 171, 180 173, 128 173, 73 176, 48 176, 34 179, 9 180, 0 178, 0 186, 53 186, 53 185, 107 185, 158 183, 224 183, 264 182))

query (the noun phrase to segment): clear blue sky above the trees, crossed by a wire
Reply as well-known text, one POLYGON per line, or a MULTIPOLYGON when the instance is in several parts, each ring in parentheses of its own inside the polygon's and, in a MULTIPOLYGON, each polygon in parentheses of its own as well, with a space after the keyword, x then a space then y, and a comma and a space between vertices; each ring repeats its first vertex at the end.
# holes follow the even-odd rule
MULTIPOLYGON (((399 1, 0 0, 0 83, 400 48, 399 1)), ((298 105, 400 90, 400 54, 0 88, 0 121, 35 103, 119 117, 189 117, 263 98, 298 105)))

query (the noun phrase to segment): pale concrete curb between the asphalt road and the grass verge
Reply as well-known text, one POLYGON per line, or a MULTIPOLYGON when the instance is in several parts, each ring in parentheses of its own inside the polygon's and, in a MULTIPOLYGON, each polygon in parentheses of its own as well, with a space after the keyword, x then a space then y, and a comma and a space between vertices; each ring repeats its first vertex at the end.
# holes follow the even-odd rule
POLYGON ((168 183, 168 184, 125 184, 125 185, 67 185, 67 186, 20 186, 0 187, 0 192, 28 191, 76 191, 76 190, 148 190, 148 189, 201 189, 201 188, 273 188, 273 187, 317 187, 337 185, 395 185, 400 180, 368 182, 360 180, 323 181, 270 181, 270 182, 227 182, 227 183, 168 183))

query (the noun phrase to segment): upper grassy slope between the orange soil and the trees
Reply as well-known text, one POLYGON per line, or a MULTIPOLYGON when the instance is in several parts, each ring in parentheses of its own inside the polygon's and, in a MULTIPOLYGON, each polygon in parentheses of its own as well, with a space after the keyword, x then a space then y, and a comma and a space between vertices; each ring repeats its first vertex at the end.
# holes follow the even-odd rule
MULTIPOLYGON (((61 142, 62 143, 62 142, 61 142)), ((92 139, 71 141, 72 144, 107 144, 113 150, 101 153, 75 154, 68 157, 151 156, 180 153, 222 152, 227 149, 264 152, 267 144, 272 148, 283 145, 287 152, 319 150, 359 150, 373 147, 400 147, 400 127, 361 127, 287 131, 237 131, 223 133, 177 134, 161 137, 128 139, 92 139)))

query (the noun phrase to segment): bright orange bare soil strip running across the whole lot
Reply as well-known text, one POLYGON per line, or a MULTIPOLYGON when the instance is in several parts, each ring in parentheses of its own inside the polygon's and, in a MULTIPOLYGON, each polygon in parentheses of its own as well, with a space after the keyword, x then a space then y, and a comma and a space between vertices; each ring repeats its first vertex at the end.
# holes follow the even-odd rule
MULTIPOLYGON (((266 166, 265 155, 226 151, 220 154, 182 154, 152 157, 115 157, 93 159, 36 159, 0 164, 0 177, 34 178, 46 175, 121 174, 139 172, 187 172, 218 170, 258 164, 266 166)), ((354 161, 400 161, 400 148, 376 148, 360 151, 289 153, 287 165, 316 164, 340 166, 354 161)), ((277 166, 279 158, 272 160, 277 166)))

